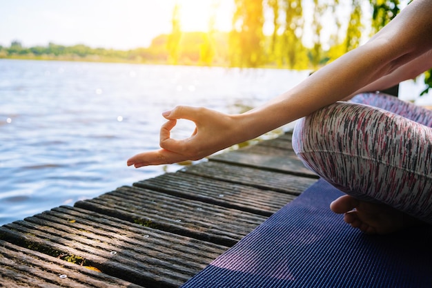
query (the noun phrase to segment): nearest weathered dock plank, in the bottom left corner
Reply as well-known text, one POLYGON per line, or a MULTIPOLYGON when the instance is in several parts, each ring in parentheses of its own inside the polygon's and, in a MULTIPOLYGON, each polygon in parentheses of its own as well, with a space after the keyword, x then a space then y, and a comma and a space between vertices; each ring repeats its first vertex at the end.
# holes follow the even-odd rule
POLYGON ((144 286, 0 240, 0 287, 139 288, 144 286))

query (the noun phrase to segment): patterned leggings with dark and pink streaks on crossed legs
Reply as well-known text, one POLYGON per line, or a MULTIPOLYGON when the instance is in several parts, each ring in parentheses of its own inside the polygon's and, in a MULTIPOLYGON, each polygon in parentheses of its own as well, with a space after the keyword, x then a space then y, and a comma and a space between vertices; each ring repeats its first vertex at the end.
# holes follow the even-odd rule
POLYGON ((432 224, 432 111, 364 93, 300 119, 293 147, 344 193, 432 224))

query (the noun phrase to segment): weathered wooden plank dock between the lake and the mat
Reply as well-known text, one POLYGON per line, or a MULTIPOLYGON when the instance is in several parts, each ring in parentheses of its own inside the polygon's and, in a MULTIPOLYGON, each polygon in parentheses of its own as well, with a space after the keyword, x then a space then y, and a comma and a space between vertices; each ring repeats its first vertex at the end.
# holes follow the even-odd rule
POLYGON ((3 225, 0 287, 179 287, 316 180, 286 133, 3 225))

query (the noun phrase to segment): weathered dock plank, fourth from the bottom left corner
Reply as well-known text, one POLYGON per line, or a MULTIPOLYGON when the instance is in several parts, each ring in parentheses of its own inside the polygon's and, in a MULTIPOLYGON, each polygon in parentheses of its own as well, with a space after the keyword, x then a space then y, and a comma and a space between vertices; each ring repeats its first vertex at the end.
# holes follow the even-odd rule
POLYGON ((166 173, 134 186, 192 200, 271 216, 295 196, 185 173, 166 173))

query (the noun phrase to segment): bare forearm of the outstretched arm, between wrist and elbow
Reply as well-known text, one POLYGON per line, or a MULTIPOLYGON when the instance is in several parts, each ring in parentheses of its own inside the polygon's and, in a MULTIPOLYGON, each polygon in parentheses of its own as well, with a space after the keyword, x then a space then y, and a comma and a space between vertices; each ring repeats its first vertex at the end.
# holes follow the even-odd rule
MULTIPOLYGON (((245 127, 253 127, 253 129, 244 129, 245 138, 257 137, 309 115, 324 106, 344 99, 346 95, 353 94, 374 79, 385 75, 391 60, 382 61, 384 56, 377 51, 383 51, 385 48, 377 49, 376 45, 378 44, 366 44, 349 52, 271 102, 239 115, 240 123, 245 127), (368 61, 364 61, 366 55, 368 61)), ((379 45, 385 46, 385 44, 379 45)))

